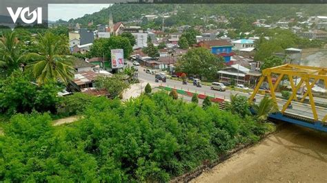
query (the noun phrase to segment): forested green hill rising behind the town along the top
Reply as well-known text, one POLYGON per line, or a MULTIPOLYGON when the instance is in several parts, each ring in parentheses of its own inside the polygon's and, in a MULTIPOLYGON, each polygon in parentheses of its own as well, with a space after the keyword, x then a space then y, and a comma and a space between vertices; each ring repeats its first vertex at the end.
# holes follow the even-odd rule
MULTIPOLYGON (((204 16, 212 15, 229 17, 244 17, 250 19, 268 19, 278 21, 281 17, 297 18, 295 12, 304 12, 307 16, 327 15, 327 5, 304 4, 114 4, 93 14, 86 14, 78 19, 70 19, 69 23, 87 25, 93 21, 95 25, 108 23, 110 12, 114 21, 133 21, 141 18, 141 14, 163 14, 173 12, 165 20, 165 25, 201 25, 204 16)), ((157 19, 157 24, 162 19, 157 19)))

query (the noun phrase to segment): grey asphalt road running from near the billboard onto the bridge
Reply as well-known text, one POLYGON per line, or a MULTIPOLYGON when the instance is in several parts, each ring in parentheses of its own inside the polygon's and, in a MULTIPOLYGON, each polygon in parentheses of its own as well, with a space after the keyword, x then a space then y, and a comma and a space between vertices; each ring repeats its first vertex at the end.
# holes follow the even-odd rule
MULTIPOLYGON (((128 65, 132 65, 132 63, 128 63, 128 65)), ((209 96, 215 96, 215 97, 219 97, 219 98, 224 98, 226 100, 230 100, 230 95, 233 94, 238 94, 239 96, 246 96, 247 98, 250 97, 250 94, 244 93, 244 92, 237 92, 237 91, 231 91, 231 90, 226 90, 225 92, 219 92, 216 90, 212 90, 209 86, 205 86, 202 85, 202 87, 196 87, 194 85, 192 85, 192 83, 188 83, 188 85, 183 85, 181 83, 181 81, 177 81, 177 80, 170 80, 167 79, 166 83, 162 83, 162 81, 160 80, 159 83, 155 83, 155 75, 152 74, 147 74, 146 72, 143 71, 144 67, 138 66, 139 68, 139 80, 143 81, 143 83, 150 83, 150 85, 152 86, 165 86, 165 87, 173 87, 176 89, 184 89, 184 90, 188 90, 190 92, 197 92, 198 94, 206 94, 209 96)), ((277 95, 281 95, 278 94, 277 95)), ((257 95, 255 97, 257 99, 257 102, 259 102, 261 100, 261 98, 263 98, 263 96, 261 95, 257 95)), ((279 109, 282 109, 283 105, 286 103, 286 100, 282 100, 282 99, 277 99, 278 100, 278 106, 279 109)), ((315 100, 320 100, 321 102, 325 102, 325 98, 315 98, 315 100)), ((290 114, 297 114, 299 116, 305 116, 307 118, 313 118, 313 113, 311 111, 311 107, 308 104, 304 104, 304 103, 297 103, 297 102, 293 102, 293 109, 286 109, 287 113, 290 114)), ((317 108, 317 115, 318 118, 321 120, 322 118, 324 118, 324 116, 327 115, 327 109, 324 107, 318 107, 317 108)))

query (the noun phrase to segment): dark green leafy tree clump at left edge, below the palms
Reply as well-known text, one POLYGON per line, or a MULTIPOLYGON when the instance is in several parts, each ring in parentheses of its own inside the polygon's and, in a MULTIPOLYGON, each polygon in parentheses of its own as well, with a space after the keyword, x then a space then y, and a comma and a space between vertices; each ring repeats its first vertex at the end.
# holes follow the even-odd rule
POLYGON ((12 72, 5 80, 0 80, 0 111, 8 115, 37 111, 56 111, 57 92, 55 83, 35 85, 28 74, 12 72))

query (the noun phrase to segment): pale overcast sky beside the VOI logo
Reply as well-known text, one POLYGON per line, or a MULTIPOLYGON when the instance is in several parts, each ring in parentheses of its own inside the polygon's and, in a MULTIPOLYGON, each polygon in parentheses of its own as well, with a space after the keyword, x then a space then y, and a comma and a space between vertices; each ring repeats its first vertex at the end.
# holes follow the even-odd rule
POLYGON ((84 14, 99 12, 102 8, 108 8, 109 6, 111 4, 49 4, 48 19, 50 21, 59 19, 68 21, 69 19, 83 17, 84 14))

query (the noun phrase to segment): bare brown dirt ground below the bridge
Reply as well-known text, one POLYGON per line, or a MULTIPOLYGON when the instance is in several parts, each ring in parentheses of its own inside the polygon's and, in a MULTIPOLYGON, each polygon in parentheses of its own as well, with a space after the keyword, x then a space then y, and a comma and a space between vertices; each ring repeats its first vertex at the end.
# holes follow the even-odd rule
POLYGON ((285 124, 191 182, 327 182, 327 133, 285 124))

